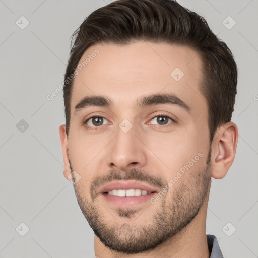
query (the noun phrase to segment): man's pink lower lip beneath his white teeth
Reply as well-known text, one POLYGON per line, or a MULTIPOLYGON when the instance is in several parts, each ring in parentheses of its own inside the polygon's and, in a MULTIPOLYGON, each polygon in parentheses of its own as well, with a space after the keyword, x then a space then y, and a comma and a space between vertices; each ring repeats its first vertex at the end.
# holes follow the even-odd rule
POLYGON ((149 195, 141 195, 141 196, 113 196, 108 193, 102 193, 102 196, 110 203, 115 204, 119 207, 128 207, 134 206, 137 204, 142 204, 144 202, 149 201, 152 197, 154 197, 157 193, 152 192, 149 195))

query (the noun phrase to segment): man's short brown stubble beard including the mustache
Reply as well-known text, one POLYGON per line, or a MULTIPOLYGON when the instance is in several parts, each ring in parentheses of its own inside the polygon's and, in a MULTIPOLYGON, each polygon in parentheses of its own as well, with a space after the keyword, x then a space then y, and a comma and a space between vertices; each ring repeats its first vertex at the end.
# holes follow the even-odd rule
MULTIPOLYGON (((137 180, 163 188, 167 183, 160 177, 151 176, 145 171, 135 168, 125 173, 112 170, 108 176, 94 178, 90 189, 91 200, 87 200, 85 195, 87 189, 83 185, 74 184, 76 198, 94 234, 106 247, 127 254, 148 251, 176 235, 198 214, 209 193, 210 157, 211 149, 205 167, 198 171, 193 171, 194 168, 190 168, 192 171, 186 172, 182 176, 185 178, 180 179, 179 187, 174 188, 173 185, 174 189, 171 194, 168 190, 166 195, 158 201, 160 203, 152 219, 142 226, 132 226, 130 225, 131 221, 120 223, 119 219, 112 224, 107 223, 105 213, 108 211, 101 212, 101 204, 95 200, 97 189, 112 180, 137 180)), ((70 166, 72 168, 71 161, 70 166)), ((130 219, 136 217, 138 211, 133 208, 117 208, 116 212, 120 218, 130 219)))

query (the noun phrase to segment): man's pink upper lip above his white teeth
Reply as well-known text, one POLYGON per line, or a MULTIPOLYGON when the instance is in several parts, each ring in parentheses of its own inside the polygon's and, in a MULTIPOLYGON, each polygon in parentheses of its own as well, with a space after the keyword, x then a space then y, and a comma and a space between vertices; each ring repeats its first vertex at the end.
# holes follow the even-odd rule
POLYGON ((110 183, 105 184, 103 187, 101 187, 100 192, 108 192, 113 189, 122 189, 122 190, 129 190, 129 189, 141 189, 146 190, 150 192, 157 192, 158 189, 150 186, 144 182, 139 181, 133 181, 133 180, 126 180, 126 181, 112 181, 110 183))

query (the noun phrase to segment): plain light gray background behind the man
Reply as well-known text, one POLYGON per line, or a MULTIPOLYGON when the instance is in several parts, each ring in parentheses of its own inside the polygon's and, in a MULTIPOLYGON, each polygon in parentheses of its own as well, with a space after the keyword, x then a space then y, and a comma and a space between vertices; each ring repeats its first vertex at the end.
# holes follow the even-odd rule
MULTIPOLYGON (((258 2, 179 3, 207 19, 239 69, 232 119, 239 128, 238 148, 226 177, 213 179, 207 233, 216 235, 224 257, 258 257, 258 2), (228 16, 236 22, 231 29, 224 26, 233 25, 231 18, 225 20, 228 16)), ((70 36, 87 15, 106 4, 0 0, 2 258, 94 257, 93 232, 72 183, 63 177, 58 131, 64 123, 62 93, 52 101, 46 96, 63 82, 70 36), (16 25, 21 16, 29 21, 23 30, 16 25), (22 119, 28 128, 22 127, 22 119), (26 233, 22 222, 29 227, 25 236, 20 235, 26 233)))

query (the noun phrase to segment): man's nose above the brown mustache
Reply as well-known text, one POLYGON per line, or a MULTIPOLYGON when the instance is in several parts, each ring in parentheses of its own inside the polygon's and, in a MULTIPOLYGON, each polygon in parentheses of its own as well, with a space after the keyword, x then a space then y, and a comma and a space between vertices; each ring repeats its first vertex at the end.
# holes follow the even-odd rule
POLYGON ((137 128, 133 126, 130 131, 125 133, 118 127, 117 135, 108 149, 107 161, 110 168, 126 171, 146 165, 146 147, 136 130, 137 128))

